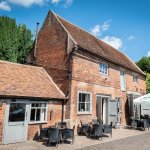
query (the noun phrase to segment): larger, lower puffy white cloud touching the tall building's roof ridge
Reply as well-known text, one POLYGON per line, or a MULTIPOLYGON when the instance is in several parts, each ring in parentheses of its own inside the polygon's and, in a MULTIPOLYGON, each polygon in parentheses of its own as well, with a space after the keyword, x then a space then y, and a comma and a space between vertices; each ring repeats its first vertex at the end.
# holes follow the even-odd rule
POLYGON ((112 47, 116 48, 116 49, 120 49, 122 48, 122 40, 118 37, 115 36, 105 36, 103 39, 101 39, 102 41, 104 41, 105 43, 111 45, 112 47))

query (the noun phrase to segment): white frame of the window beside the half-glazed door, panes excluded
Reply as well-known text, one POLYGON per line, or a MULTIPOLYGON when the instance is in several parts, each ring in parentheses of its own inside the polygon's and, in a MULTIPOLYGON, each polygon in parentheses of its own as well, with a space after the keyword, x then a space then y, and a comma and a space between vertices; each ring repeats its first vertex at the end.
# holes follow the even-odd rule
POLYGON ((31 101, 30 102, 30 114, 29 114, 29 124, 38 124, 38 123, 47 123, 48 121, 47 121, 47 113, 48 113, 48 102, 46 102, 46 101, 31 101), (38 104, 41 104, 41 103, 44 103, 44 104, 46 104, 46 107, 35 107, 36 109, 37 108, 39 108, 39 109, 43 109, 43 108, 46 108, 46 114, 45 114, 45 121, 31 121, 30 120, 30 116, 31 116, 31 109, 32 108, 34 108, 34 107, 32 107, 32 104, 33 103, 38 103, 38 104))

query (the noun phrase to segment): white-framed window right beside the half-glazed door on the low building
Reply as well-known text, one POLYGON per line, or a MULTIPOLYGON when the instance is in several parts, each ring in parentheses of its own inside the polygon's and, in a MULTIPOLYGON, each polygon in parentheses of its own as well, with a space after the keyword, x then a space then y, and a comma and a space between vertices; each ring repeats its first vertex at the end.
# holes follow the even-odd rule
POLYGON ((47 103, 32 103, 30 122, 47 121, 47 103))

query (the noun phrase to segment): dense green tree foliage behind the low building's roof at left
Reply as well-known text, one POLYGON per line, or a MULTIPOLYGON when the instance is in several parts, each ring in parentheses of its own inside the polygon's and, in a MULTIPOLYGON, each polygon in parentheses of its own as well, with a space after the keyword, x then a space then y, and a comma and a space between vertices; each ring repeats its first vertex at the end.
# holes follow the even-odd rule
POLYGON ((0 16, 0 59, 24 64, 32 45, 32 34, 26 25, 17 25, 15 19, 0 16))

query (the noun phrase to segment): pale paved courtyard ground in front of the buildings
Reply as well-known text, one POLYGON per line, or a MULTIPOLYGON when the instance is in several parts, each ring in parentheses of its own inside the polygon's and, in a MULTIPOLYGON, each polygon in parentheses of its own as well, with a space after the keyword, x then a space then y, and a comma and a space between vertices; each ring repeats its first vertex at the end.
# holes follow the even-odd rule
MULTIPOLYGON (((150 147, 150 132, 149 131, 139 131, 134 129, 113 129, 113 137, 103 137, 103 140, 92 140, 85 136, 75 136, 75 143, 71 144, 59 144, 58 150, 73 150, 73 149, 83 149, 83 150, 125 150, 137 148, 147 148, 149 144, 150 147), (129 138, 127 138, 129 137, 129 138), (144 140, 144 141, 143 141, 144 140), (146 144, 146 145, 145 145, 146 144)), ((56 147, 47 147, 42 142, 28 141, 24 143, 9 144, 0 146, 0 150, 49 150, 56 149, 56 147)), ((149 149, 149 148, 148 148, 149 149)), ((144 150, 144 149, 140 149, 144 150)))

